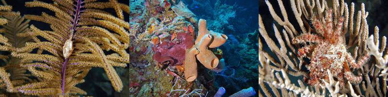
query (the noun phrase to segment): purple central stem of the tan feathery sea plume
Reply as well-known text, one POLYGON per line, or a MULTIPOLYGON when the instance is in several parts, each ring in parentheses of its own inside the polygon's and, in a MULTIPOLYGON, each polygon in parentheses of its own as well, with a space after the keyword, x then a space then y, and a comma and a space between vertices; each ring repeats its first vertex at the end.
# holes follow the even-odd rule
MULTIPOLYGON (((75 13, 73 13, 73 20, 71 21, 73 26, 70 28, 70 31, 73 31, 70 33, 70 35, 74 35, 75 32, 77 32, 76 30, 76 27, 78 26, 78 20, 79 20, 79 14, 81 12, 81 8, 83 7, 81 4, 84 3, 83 1, 81 0, 77 0, 77 5, 75 9, 73 9, 73 11, 75 13)), ((70 36, 70 37, 73 37, 73 36, 70 36)), ((67 62, 69 61, 69 58, 65 58, 63 64, 62 64, 62 95, 65 94, 65 74, 66 74, 66 65, 67 65, 67 62)))

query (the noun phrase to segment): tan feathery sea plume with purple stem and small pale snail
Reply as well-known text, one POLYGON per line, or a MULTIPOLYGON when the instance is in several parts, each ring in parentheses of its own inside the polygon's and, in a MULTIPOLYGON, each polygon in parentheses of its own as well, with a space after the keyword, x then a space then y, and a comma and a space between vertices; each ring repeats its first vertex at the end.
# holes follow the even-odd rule
POLYGON ((102 67, 114 89, 120 92, 123 83, 113 66, 124 67, 129 63, 129 54, 125 51, 129 44, 126 30, 129 24, 121 18, 122 10, 125 11, 127 6, 116 0, 53 1, 26 2, 27 7, 43 7, 55 14, 43 12, 40 16, 25 16, 50 24, 51 30, 43 31, 31 25, 31 32, 27 33, 35 42, 27 43, 12 53, 22 58, 22 65, 42 79, 16 89, 36 96, 86 95, 85 91, 75 85, 84 82, 83 78, 91 67, 102 67), (96 3, 104 3, 105 7, 90 6, 96 3), (105 8, 114 8, 117 16, 104 11, 105 8))

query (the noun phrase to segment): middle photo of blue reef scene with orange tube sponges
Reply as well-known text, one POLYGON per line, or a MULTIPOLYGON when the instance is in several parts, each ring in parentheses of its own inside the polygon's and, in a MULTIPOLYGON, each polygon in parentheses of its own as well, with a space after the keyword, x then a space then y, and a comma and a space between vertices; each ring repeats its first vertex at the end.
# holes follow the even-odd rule
POLYGON ((258 3, 252 2, 130 0, 129 87, 117 94, 257 96, 257 41, 246 39, 258 28, 258 3))

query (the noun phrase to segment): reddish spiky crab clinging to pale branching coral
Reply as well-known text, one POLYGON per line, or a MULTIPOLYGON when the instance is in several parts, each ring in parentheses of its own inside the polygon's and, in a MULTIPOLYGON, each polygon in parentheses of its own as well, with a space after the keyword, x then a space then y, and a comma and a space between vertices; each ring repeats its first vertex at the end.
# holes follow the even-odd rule
POLYGON ((333 77, 344 86, 345 81, 360 83, 361 76, 354 75, 350 68, 358 69, 364 65, 368 55, 360 57, 357 61, 346 48, 343 32, 343 17, 332 17, 332 10, 326 11, 325 17, 311 18, 312 32, 302 33, 292 40, 293 44, 307 44, 298 49, 299 57, 307 57, 310 64, 307 65, 309 72, 309 85, 323 85, 323 81, 328 81, 326 70, 329 69, 333 77))

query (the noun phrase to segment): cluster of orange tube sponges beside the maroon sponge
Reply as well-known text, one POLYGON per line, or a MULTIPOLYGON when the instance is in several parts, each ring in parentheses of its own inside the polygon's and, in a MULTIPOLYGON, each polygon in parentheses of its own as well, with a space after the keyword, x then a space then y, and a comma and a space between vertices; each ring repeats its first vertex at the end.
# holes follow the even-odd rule
POLYGON ((209 50, 216 48, 226 42, 228 36, 222 33, 208 31, 206 20, 200 19, 198 23, 198 35, 191 49, 186 49, 185 77, 186 81, 194 81, 197 78, 197 62, 195 58, 208 69, 214 69, 219 63, 219 59, 209 50), (196 56, 196 57, 194 57, 196 56))

